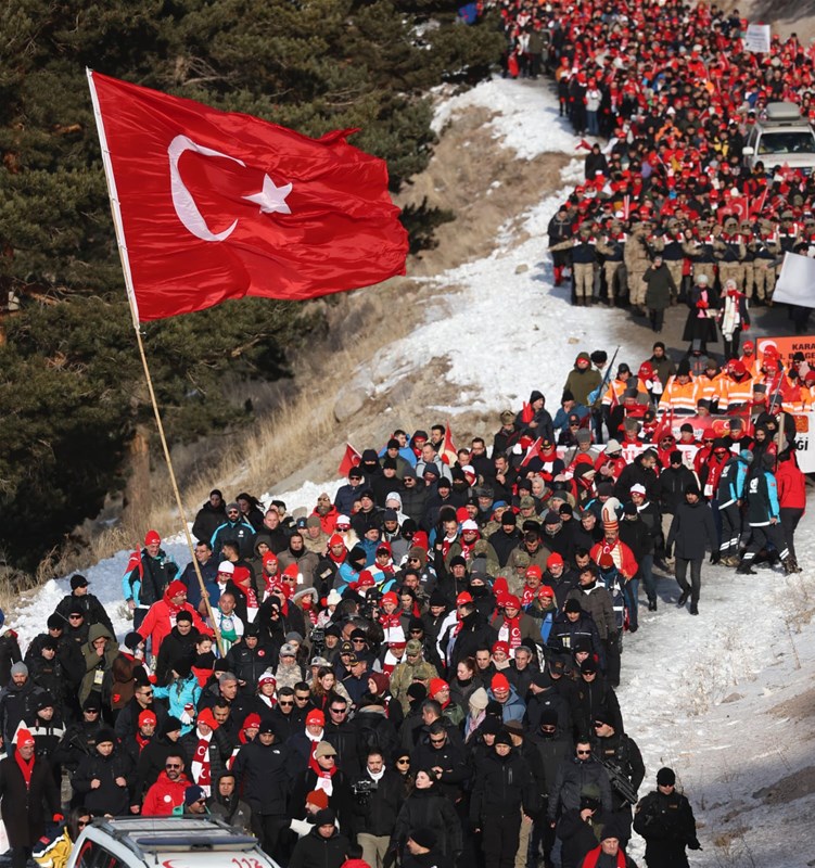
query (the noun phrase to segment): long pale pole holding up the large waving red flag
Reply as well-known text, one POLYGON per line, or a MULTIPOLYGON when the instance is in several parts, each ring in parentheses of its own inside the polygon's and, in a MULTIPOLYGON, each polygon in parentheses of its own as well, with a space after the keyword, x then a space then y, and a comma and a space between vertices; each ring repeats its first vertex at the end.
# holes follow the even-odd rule
POLYGON ((195 570, 195 575, 198 576, 199 586, 201 588, 201 599, 206 604, 206 612, 209 618, 209 624, 215 633, 215 640, 218 644, 218 651, 220 655, 225 655, 224 649, 224 639, 220 635, 220 630, 218 629, 218 625, 215 622, 215 615, 213 614, 213 608, 209 603, 209 597, 206 592, 206 588, 204 586, 204 577, 201 575, 201 567, 199 562, 195 558, 195 548, 192 542, 192 535, 190 534, 190 526, 187 522, 187 513, 184 512, 183 503, 181 502, 181 494, 178 490, 178 483, 176 481, 176 473, 173 469, 173 460, 170 459, 169 455, 169 447, 167 446, 167 438, 164 435, 164 424, 162 423, 162 414, 158 411, 158 404, 155 399, 155 392, 153 390, 153 379, 150 375, 150 366, 148 365, 148 357, 144 354, 144 344, 141 339, 141 328, 139 322, 139 306, 136 301, 136 292, 133 290, 132 284, 132 273, 130 271, 130 259, 127 255, 127 244, 125 243, 125 227, 122 222, 122 212, 119 210, 119 201, 118 201, 118 193, 116 191, 116 178, 113 174, 113 164, 111 163, 111 153, 107 149, 107 138, 104 131, 104 123, 102 120, 102 112, 99 107, 99 98, 97 97, 97 89, 93 84, 93 71, 86 67, 86 73, 88 76, 88 87, 90 88, 90 97, 93 103, 93 116, 97 120, 97 132, 99 135, 99 145, 102 151, 102 163, 104 165, 104 173, 105 173, 105 180, 107 182, 107 197, 111 203, 111 215, 113 217, 113 226, 116 231, 116 246, 119 251, 119 259, 122 261, 122 273, 125 278, 125 289, 127 290, 127 301, 130 306, 130 317, 133 323, 133 331, 136 332, 136 343, 139 347, 139 356, 141 357, 141 365, 144 369, 144 379, 148 384, 148 392, 150 394, 150 403, 153 406, 153 414, 155 416, 155 423, 158 429, 158 437, 162 442, 162 449, 164 451, 164 459, 167 462, 167 470, 169 472, 169 481, 170 485, 173 486, 173 494, 176 498, 176 506, 178 507, 178 513, 181 516, 181 526, 183 527, 184 535, 187 537, 187 545, 190 549, 190 558, 192 559, 192 565, 195 570))

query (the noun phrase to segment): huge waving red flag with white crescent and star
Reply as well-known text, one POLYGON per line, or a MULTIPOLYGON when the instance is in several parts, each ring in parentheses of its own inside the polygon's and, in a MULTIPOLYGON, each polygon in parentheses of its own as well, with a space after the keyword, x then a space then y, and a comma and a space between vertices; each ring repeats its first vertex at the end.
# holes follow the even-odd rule
POLYGON ((88 73, 139 320, 298 301, 405 273, 384 161, 88 73))

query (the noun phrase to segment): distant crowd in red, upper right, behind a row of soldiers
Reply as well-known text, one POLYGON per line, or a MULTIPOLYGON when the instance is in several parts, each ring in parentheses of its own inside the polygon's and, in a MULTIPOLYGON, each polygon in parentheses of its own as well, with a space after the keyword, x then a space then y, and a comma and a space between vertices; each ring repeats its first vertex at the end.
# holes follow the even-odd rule
MULTIPOLYGON (((654 331, 672 303, 698 310, 704 289, 726 339, 749 324, 746 303, 772 305, 784 254, 813 250, 815 180, 784 154, 748 167, 744 146, 769 103, 815 119, 815 52, 794 34, 750 51, 738 10, 701 2, 483 7, 502 16, 509 74, 551 74, 561 115, 594 138, 549 226, 556 283, 569 269, 576 304, 628 304, 654 331)), ((797 333, 808 312, 790 309, 797 333)))

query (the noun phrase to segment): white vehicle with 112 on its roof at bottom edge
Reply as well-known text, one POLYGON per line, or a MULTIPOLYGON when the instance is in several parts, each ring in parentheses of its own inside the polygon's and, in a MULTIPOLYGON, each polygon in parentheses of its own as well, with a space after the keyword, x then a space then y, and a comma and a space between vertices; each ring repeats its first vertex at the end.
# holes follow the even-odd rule
POLYGON ((252 838, 214 817, 94 819, 67 868, 279 868, 252 838))

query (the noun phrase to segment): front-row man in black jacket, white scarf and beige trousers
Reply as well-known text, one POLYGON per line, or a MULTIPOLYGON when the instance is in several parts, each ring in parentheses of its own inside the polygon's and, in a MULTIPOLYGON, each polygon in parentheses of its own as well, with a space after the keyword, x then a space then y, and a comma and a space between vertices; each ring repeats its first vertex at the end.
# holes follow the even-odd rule
POLYGON ((362 858, 371 868, 384 868, 391 832, 404 800, 402 776, 385 768, 382 752, 371 749, 359 779, 351 784, 352 826, 362 858))

